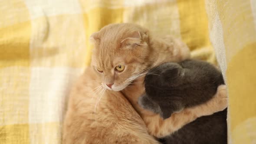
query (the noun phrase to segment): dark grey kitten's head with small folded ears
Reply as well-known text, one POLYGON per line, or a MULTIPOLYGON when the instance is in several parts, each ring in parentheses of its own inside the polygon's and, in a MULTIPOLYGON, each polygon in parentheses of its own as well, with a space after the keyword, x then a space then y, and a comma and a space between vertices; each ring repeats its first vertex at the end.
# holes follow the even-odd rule
POLYGON ((169 118, 173 112, 183 108, 177 102, 173 105, 174 97, 170 95, 174 89, 182 87, 184 69, 178 63, 167 62, 152 69, 151 73, 145 77, 146 94, 139 98, 138 104, 164 119, 169 118))

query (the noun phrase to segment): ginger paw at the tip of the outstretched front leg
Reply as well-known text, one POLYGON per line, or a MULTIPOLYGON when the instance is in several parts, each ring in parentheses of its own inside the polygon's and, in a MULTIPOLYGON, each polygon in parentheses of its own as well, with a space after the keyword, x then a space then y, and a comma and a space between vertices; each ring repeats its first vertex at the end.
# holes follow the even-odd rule
POLYGON ((217 89, 216 97, 216 105, 218 111, 223 111, 227 108, 228 98, 227 98, 227 89, 226 85, 220 85, 217 89))

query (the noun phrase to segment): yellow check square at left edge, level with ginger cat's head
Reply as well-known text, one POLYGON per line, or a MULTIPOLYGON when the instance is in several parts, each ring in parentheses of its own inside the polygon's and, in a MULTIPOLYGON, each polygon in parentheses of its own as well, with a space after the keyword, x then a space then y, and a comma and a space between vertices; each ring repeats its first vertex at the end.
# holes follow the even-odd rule
POLYGON ((0 27, 0 67, 30 65, 30 21, 0 27))

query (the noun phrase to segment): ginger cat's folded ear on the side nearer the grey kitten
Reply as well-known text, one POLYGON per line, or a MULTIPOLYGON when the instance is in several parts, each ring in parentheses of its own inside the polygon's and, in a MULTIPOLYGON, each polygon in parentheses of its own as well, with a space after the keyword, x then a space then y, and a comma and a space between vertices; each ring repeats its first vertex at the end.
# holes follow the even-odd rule
POLYGON ((144 46, 144 45, 147 45, 147 43, 144 42, 145 38, 147 38, 147 35, 145 33, 142 33, 139 31, 133 31, 127 36, 127 38, 121 41, 121 45, 122 46, 144 46))

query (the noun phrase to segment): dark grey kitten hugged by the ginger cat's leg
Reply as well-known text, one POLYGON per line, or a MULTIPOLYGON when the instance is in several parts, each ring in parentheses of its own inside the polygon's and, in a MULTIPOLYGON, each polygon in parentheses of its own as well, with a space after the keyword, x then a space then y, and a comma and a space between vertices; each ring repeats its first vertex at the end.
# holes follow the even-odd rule
MULTIPOLYGON (((139 104, 168 118, 177 111, 209 101, 224 81, 213 65, 198 60, 167 62, 145 77, 146 95, 139 104)), ((174 134, 165 137, 166 144, 226 144, 226 109, 197 118, 174 134)))

